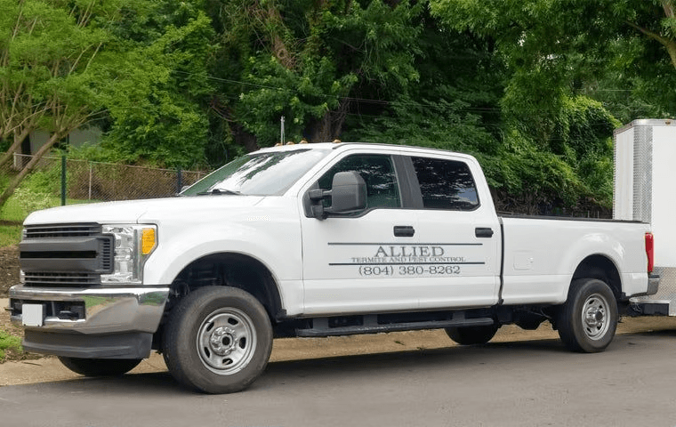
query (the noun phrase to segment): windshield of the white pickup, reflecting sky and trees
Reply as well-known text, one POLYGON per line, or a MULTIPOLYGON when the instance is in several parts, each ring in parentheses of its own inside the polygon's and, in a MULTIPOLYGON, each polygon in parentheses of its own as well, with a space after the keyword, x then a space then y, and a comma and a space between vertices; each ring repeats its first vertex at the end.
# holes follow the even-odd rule
POLYGON ((280 195, 329 152, 329 149, 294 149, 249 154, 205 176, 181 191, 181 196, 280 195))

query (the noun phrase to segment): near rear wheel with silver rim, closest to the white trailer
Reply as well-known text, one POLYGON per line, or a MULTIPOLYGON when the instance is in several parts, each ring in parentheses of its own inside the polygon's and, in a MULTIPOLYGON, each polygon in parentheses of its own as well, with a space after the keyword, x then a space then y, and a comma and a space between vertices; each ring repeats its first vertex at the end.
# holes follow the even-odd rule
POLYGON ((618 319, 617 301, 610 286, 596 278, 582 278, 570 285, 556 324, 569 350, 597 353, 613 341, 618 319))

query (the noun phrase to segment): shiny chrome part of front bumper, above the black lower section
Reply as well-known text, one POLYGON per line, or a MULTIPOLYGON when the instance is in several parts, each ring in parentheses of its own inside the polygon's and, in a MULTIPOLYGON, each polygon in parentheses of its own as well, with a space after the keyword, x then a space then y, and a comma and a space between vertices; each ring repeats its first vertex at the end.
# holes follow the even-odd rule
POLYGON ((168 286, 94 289, 12 286, 9 292, 10 318, 12 323, 24 327, 27 332, 152 334, 159 326, 168 295, 168 286), (42 326, 23 325, 20 307, 24 303, 43 304, 42 326), (60 310, 71 306, 81 312, 60 310))

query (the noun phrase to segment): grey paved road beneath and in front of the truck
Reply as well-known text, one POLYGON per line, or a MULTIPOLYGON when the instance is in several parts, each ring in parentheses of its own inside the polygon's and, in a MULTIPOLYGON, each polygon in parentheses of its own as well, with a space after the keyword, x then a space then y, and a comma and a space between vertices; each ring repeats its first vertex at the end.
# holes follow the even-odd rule
POLYGON ((2 426, 676 426, 676 331, 270 364, 248 391, 166 373, 0 388, 2 426))

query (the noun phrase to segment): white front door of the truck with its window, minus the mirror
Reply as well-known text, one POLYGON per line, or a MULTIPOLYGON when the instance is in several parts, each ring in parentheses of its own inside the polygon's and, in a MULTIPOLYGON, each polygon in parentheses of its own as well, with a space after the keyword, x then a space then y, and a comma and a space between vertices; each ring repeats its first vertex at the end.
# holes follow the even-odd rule
MULTIPOLYGON (((366 210, 324 220, 302 217, 305 314, 410 310, 414 279, 399 267, 419 254, 415 213, 402 208, 401 185, 389 154, 346 154, 317 181, 330 189, 335 173, 366 181, 366 210)), ((327 202, 328 203, 328 202, 327 202)))

